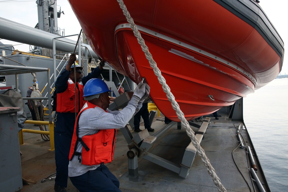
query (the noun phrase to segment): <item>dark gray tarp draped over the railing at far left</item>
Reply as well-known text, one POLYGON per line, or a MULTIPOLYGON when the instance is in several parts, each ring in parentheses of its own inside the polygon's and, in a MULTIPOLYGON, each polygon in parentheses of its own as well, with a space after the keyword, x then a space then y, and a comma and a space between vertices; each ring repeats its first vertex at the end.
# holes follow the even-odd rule
POLYGON ((21 94, 14 89, 0 90, 0 107, 20 107, 20 111, 17 111, 17 121, 18 131, 22 130, 27 117, 24 112, 24 102, 21 94))

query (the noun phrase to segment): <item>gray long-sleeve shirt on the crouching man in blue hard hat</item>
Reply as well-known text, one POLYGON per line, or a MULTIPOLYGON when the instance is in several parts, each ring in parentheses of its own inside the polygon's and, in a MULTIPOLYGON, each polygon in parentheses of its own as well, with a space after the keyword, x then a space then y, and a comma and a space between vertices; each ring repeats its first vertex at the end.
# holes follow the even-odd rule
MULTIPOLYGON (((87 107, 84 105, 82 109, 87 107)), ((117 129, 126 126, 128 121, 139 111, 142 107, 142 103, 139 102, 139 98, 132 96, 128 105, 121 111, 110 111, 107 109, 106 113, 100 107, 86 109, 79 117, 78 136, 82 138, 85 135, 91 135, 98 132, 100 129, 117 129)), ((82 153, 82 145, 78 142, 77 152, 82 153)), ((82 159, 82 157, 79 157, 82 159)), ((89 170, 94 170, 99 165, 83 165, 79 163, 78 156, 74 156, 69 161, 68 175, 69 177, 79 176, 86 173, 89 170)))

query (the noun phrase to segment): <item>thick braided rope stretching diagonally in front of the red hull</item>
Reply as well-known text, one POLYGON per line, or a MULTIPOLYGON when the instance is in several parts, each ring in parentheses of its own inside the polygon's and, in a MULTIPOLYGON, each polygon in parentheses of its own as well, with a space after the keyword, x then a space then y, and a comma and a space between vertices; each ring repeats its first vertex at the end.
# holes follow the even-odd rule
POLYGON ((192 144, 196 147, 197 152, 201 156, 201 159, 204 163, 204 165, 207 168, 208 173, 212 176, 214 184, 217 186, 218 191, 226 191, 225 187, 221 184, 220 178, 217 176, 214 168, 210 164, 210 161, 208 157, 206 156, 204 150, 198 143, 194 131, 190 128, 190 125, 188 121, 185 119, 183 112, 181 111, 178 103, 175 101, 174 95, 171 93, 169 86, 166 84, 165 78, 161 75, 161 71, 157 67, 156 62, 153 60, 151 53, 148 50, 148 47, 145 45, 144 39, 141 37, 140 32, 137 30, 137 26, 135 25, 133 19, 130 16, 130 13, 128 12, 126 6, 124 5, 123 0, 117 0, 127 21, 130 24, 130 28, 132 29, 135 37, 137 37, 138 43, 141 45, 141 48, 143 52, 145 53, 145 56, 147 60, 149 60, 149 64, 151 68, 153 68, 153 71, 155 75, 158 78, 159 83, 162 85, 163 91, 166 93, 166 96, 168 100, 171 102, 173 109, 176 111, 177 117, 181 120, 181 124, 186 130, 187 135, 191 138, 192 144))

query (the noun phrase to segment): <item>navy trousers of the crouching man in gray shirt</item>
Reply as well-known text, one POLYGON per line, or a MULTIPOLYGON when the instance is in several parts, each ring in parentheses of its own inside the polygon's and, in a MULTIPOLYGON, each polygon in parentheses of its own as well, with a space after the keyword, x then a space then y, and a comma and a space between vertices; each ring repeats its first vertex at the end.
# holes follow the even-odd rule
POLYGON ((121 192, 119 180, 105 165, 80 176, 70 177, 70 180, 80 192, 121 192))

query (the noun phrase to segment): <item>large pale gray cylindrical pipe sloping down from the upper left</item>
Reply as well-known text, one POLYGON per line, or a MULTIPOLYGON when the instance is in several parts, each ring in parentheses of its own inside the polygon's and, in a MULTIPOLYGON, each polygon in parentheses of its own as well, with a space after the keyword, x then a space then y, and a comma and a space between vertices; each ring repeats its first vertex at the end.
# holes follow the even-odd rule
MULTIPOLYGON (((2 17, 0 17, 0 29, 0 38, 2 39, 35 45, 47 49, 53 48, 53 38, 60 37, 2 17)), ((61 38, 61 41, 56 41, 56 50, 62 52, 73 52, 75 44, 76 41, 63 37, 61 38)), ((83 44, 83 47, 87 47, 88 50, 90 50, 90 53, 92 54, 90 57, 98 59, 98 56, 94 53, 90 45, 83 44)), ((76 50, 78 49, 76 48, 76 50)), ((83 51, 83 53, 85 53, 85 51, 83 51)))

